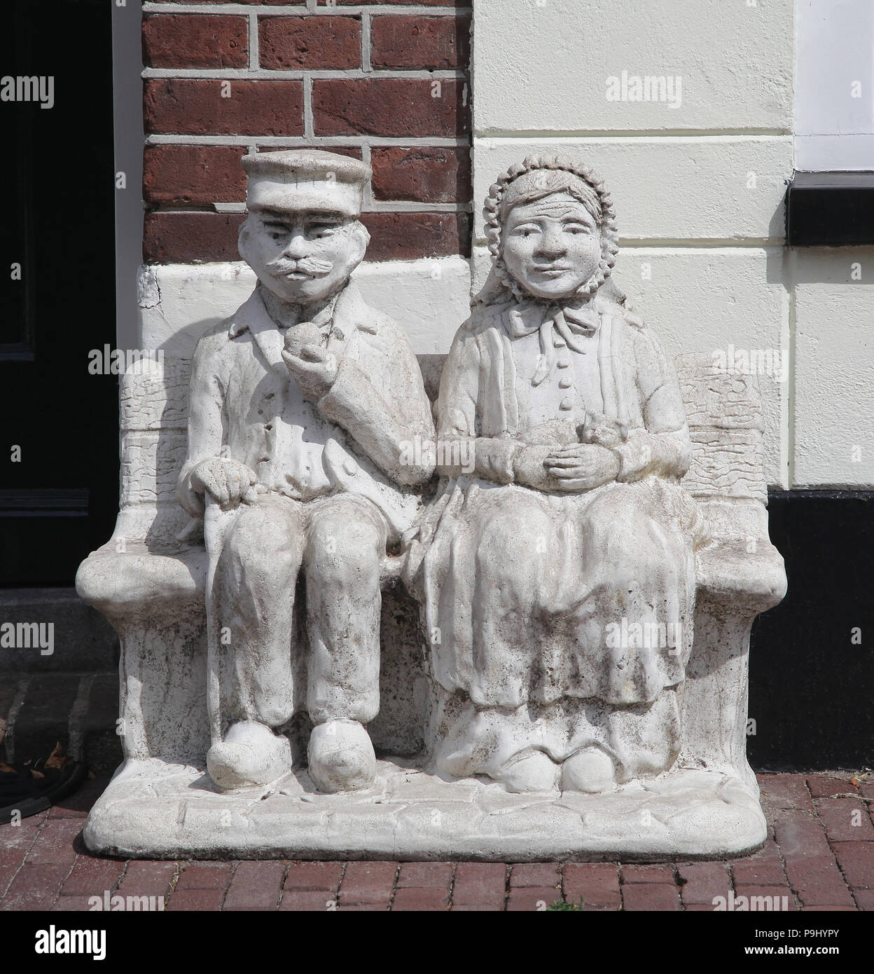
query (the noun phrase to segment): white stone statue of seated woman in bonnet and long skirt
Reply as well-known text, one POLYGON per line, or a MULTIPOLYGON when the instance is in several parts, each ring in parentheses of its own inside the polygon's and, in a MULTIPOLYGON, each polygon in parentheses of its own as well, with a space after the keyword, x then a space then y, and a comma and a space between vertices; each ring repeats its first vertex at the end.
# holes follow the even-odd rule
POLYGON ((600 793, 679 753, 707 540, 679 484, 689 431, 673 364, 605 293, 601 179, 529 158, 485 216, 492 272, 443 370, 445 479, 417 540, 433 758, 511 792, 600 793))

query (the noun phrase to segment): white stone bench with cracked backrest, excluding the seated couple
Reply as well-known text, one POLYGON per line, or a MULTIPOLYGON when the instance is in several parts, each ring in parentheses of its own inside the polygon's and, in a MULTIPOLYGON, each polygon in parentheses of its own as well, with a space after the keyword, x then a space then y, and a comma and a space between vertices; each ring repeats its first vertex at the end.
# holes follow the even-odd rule
MULTIPOLYGON (((442 358, 420 357, 432 397, 442 358)), ((677 356, 675 364, 693 446, 684 483, 701 504, 712 537, 697 554, 695 642, 681 696, 678 764, 718 770, 756 796, 746 757, 749 630, 756 615, 780 602, 786 584, 783 558, 768 539, 761 402, 754 378, 714 375, 709 355, 677 356)), ((174 494, 186 453, 190 366, 187 359, 147 359, 123 377, 121 509, 113 537, 83 562, 76 579, 79 594, 121 639, 119 730, 131 767, 159 760, 202 769, 209 746, 206 553, 198 523, 174 494)), ((423 747, 430 694, 419 610, 395 581, 397 567, 396 560, 386 563, 381 712, 369 731, 378 755, 409 758, 423 747)), ((302 724, 292 734, 296 763, 305 753, 307 730, 302 724)), ((741 838, 727 840, 726 853, 764 839, 764 818, 754 805, 745 811, 751 825, 740 830, 741 838), (757 838, 750 840, 753 833, 757 838)), ((170 855, 178 849, 123 842, 112 828, 87 830, 86 838, 95 851, 170 855)), ((215 843, 210 847, 214 851, 215 843)), ((435 845, 434 854, 441 848, 435 845)), ((228 850, 270 854, 238 843, 228 850)), ((297 851, 331 854, 317 844, 310 853, 297 851)), ((393 851, 416 857, 403 848, 393 851)), ((695 848, 666 844, 671 851, 694 854, 695 848)), ((381 851, 371 848, 369 854, 381 851)), ((519 849, 515 854, 522 855, 519 849)))

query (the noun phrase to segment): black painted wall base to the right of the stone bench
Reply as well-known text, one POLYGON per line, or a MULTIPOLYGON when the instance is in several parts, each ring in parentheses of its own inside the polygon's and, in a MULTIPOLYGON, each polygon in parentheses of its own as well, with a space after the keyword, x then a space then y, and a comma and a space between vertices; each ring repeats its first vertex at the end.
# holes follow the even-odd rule
POLYGON ((874 767, 874 491, 769 499, 788 592, 749 649, 757 770, 874 767))

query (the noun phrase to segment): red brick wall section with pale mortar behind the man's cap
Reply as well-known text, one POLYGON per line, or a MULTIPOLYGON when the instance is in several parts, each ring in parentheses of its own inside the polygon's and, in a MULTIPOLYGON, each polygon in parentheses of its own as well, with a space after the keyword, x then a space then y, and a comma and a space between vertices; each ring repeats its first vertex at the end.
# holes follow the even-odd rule
POLYGON ((374 170, 370 260, 468 255, 468 0, 143 4, 147 263, 237 260, 246 152, 374 170))

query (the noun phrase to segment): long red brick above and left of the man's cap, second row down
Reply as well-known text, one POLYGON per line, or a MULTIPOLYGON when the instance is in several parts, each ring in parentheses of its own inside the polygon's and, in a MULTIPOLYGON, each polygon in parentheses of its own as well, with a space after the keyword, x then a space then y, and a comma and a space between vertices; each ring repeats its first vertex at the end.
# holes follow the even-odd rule
MULTIPOLYGON (((143 84, 147 132, 184 135, 302 135, 300 81, 150 78, 143 84), (229 97, 222 97, 230 85, 229 97)), ((436 99, 436 100, 448 100, 436 99)))

